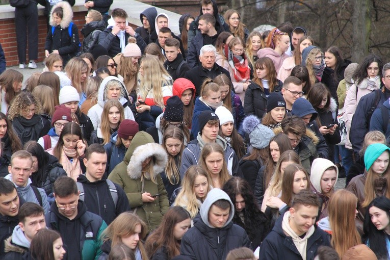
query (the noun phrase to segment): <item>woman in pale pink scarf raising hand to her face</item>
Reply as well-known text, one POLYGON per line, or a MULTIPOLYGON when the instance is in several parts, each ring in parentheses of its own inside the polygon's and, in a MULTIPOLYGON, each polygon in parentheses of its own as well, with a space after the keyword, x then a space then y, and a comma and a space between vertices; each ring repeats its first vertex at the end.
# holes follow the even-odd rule
POLYGON ((58 159, 68 177, 77 181, 77 177, 86 171, 83 163, 86 143, 80 126, 69 122, 64 125, 57 145, 47 152, 58 159))

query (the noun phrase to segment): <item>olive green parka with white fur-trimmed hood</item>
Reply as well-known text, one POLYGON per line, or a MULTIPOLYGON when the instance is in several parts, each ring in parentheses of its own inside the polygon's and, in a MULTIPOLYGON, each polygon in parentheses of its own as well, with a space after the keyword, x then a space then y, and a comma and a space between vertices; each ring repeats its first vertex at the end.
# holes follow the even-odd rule
MULTIPOLYGON (((167 192, 164 188, 160 173, 165 170, 168 155, 160 144, 156 144, 153 138, 146 132, 138 132, 127 149, 123 162, 119 163, 109 175, 109 179, 120 185, 126 193, 132 210, 145 221, 148 233, 156 229, 169 209, 167 192), (153 157, 153 174, 157 181, 154 184, 149 177, 144 177, 142 189, 141 169, 142 162, 153 157), (159 194, 153 202, 142 202, 142 193, 151 195, 159 194)), ((146 174, 148 175, 148 174, 146 174)))

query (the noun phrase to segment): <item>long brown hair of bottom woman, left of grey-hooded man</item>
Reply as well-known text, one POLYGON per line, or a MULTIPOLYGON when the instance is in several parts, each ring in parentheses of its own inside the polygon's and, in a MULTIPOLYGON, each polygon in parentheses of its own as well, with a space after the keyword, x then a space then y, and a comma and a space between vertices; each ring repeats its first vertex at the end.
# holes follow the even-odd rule
POLYGON ((171 207, 165 213, 160 226, 146 239, 145 249, 151 257, 157 249, 165 246, 168 259, 180 254, 180 241, 173 236, 173 230, 177 223, 191 219, 190 214, 181 206, 171 207))

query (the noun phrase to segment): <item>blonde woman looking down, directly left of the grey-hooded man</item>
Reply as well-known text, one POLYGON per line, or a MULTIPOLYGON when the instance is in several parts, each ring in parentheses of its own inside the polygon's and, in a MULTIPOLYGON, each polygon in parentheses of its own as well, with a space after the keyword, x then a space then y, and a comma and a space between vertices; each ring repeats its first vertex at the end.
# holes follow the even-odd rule
POLYGON ((192 165, 186 171, 181 188, 177 193, 174 205, 184 207, 192 219, 196 217, 207 194, 213 189, 209 174, 199 165, 192 165))

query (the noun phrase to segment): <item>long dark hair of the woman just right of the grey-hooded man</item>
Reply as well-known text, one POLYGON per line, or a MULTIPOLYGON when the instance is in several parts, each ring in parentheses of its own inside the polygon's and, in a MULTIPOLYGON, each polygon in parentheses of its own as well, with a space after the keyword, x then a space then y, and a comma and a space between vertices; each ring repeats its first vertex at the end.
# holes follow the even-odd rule
MULTIPOLYGON (((250 241, 253 242, 258 234, 262 234, 261 241, 263 241, 267 236, 267 233, 270 231, 269 225, 266 224, 267 218, 260 210, 260 206, 254 199, 253 192, 248 181, 241 177, 232 177, 226 181, 222 190, 229 195, 233 205, 236 204, 237 195, 241 195, 245 201, 245 208, 243 209, 245 223, 241 220, 236 211, 232 220, 233 223, 245 229, 250 241)), ((258 241, 258 244, 261 241, 258 241)))

